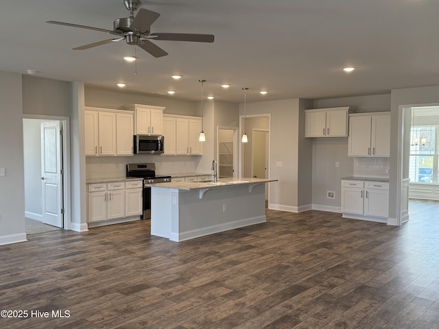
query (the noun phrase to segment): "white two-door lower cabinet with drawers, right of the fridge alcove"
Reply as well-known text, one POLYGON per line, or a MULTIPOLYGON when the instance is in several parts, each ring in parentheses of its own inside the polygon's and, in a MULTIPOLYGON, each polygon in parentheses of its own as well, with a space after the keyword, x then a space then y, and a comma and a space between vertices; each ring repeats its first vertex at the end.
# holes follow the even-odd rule
POLYGON ((387 223, 389 183, 342 180, 343 217, 387 223))

